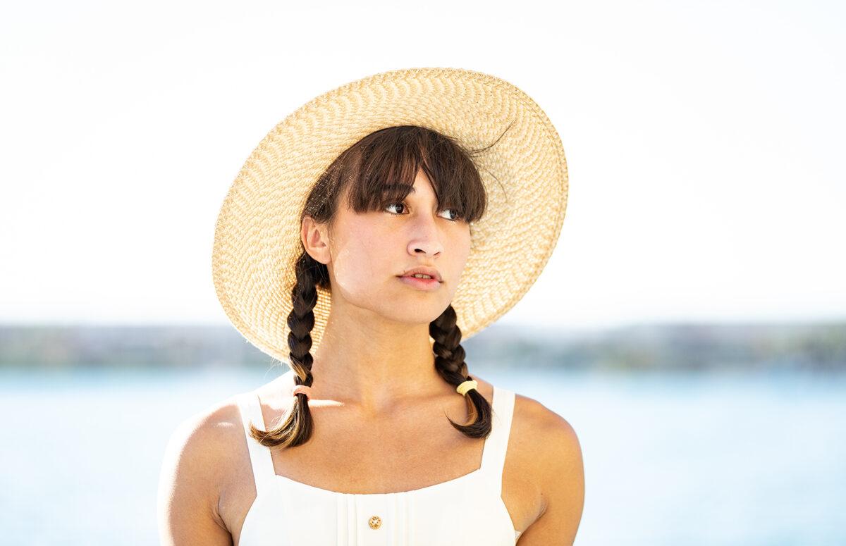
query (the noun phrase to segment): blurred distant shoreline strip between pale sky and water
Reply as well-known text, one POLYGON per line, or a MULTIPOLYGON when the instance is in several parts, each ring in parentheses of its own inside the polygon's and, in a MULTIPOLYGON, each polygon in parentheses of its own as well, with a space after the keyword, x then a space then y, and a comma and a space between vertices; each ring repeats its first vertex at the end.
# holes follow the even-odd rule
MULTIPOLYGON (((545 369, 846 370, 846 319, 678 323, 596 330, 491 325, 462 342, 467 361, 545 369)), ((0 325, 0 368, 197 368, 280 363, 232 326, 0 325)), ((283 365, 286 365, 283 363, 283 365)))

